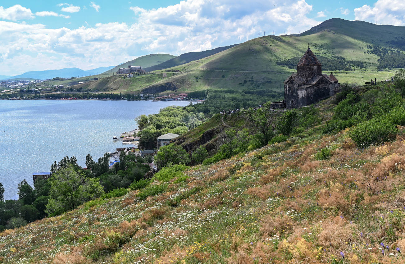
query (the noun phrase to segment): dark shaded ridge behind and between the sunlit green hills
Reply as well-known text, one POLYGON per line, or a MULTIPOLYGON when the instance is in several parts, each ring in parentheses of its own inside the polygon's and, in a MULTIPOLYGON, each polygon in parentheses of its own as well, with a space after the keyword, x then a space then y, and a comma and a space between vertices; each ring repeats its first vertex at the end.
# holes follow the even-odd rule
POLYGON ((185 64, 188 62, 191 62, 193 60, 199 60, 208 56, 211 56, 215 53, 221 52, 223 50, 232 48, 234 46, 236 46, 238 44, 234 44, 234 45, 230 45, 230 46, 226 46, 226 47, 218 47, 216 49, 209 49, 206 51, 199 51, 199 52, 188 52, 188 53, 184 53, 181 54, 173 59, 170 59, 166 62, 162 62, 161 64, 157 64, 154 66, 151 66, 149 68, 146 68, 145 70, 148 72, 154 71, 154 70, 162 70, 162 69, 166 69, 166 68, 171 68, 171 67, 175 67, 175 66, 179 66, 181 64, 185 64))

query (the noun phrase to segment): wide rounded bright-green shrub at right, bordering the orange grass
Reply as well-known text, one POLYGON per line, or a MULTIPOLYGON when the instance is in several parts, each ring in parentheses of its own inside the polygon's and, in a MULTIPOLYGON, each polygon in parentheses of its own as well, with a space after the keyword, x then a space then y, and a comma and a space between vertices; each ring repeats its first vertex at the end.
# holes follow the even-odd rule
POLYGON ((396 127, 388 118, 371 119, 359 123, 350 130, 350 137, 360 148, 371 144, 384 143, 392 140, 396 135, 396 127))

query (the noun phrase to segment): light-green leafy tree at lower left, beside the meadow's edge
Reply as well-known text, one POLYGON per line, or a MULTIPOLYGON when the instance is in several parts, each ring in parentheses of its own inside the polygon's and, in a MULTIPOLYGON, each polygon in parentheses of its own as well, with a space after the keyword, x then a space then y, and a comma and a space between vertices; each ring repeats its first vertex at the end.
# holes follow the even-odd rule
POLYGON ((75 209, 87 200, 98 198, 104 193, 98 178, 86 178, 81 171, 75 171, 72 165, 52 174, 49 179, 50 199, 45 212, 58 215, 75 209))

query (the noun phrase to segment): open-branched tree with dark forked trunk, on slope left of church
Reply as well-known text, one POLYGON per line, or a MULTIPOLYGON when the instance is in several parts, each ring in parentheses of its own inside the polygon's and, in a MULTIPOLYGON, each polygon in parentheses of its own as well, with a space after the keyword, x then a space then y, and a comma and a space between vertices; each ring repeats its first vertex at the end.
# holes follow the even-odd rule
POLYGON ((254 109, 250 107, 244 111, 243 116, 250 121, 254 128, 261 134, 260 141, 262 145, 269 143, 274 136, 273 121, 277 116, 278 111, 273 111, 270 108, 270 103, 263 104, 262 108, 254 109))

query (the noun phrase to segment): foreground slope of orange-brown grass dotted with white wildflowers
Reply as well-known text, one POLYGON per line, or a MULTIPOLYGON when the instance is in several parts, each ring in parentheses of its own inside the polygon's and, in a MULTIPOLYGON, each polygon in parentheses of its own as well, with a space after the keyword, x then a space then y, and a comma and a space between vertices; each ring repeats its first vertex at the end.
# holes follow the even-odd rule
POLYGON ((154 181, 154 196, 130 191, 5 230, 0 263, 404 263, 403 128, 365 149, 349 134, 314 127, 154 181))

